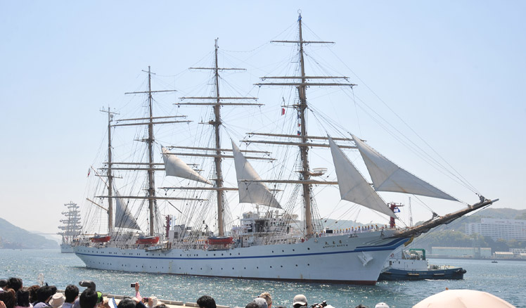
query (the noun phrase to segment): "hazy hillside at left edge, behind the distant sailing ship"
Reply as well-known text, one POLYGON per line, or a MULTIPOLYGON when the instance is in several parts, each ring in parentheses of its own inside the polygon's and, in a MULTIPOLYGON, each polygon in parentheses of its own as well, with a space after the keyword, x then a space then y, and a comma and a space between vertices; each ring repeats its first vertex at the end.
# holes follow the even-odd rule
POLYGON ((2 218, 0 218, 0 230, 0 248, 58 248, 56 241, 25 231, 2 218))

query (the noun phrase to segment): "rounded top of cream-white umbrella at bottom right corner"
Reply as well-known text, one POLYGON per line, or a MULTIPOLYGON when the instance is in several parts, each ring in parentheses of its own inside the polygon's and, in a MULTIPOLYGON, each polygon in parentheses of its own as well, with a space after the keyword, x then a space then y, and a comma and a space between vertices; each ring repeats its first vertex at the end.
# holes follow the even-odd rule
POLYGON ((422 300, 413 308, 515 308, 495 295, 475 290, 445 290, 422 300))

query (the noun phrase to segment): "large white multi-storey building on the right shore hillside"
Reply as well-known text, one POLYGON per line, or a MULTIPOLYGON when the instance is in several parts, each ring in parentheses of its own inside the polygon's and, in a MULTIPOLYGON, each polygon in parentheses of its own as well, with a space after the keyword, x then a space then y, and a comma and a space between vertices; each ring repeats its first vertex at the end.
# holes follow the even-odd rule
POLYGON ((466 234, 474 233, 493 240, 526 240, 526 220, 482 218, 480 223, 466 224, 466 234))

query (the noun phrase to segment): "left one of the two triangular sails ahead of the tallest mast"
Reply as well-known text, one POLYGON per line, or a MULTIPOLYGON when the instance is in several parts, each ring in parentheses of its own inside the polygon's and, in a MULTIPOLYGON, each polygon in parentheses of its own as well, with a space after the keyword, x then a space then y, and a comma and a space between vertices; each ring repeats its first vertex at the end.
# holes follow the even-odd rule
POLYGON ((382 198, 380 198, 380 195, 373 190, 358 169, 354 167, 352 162, 342 150, 340 150, 336 143, 334 143, 331 136, 328 138, 342 200, 351 201, 352 203, 357 203, 371 210, 397 218, 382 198))

